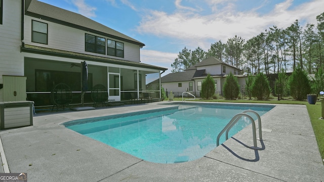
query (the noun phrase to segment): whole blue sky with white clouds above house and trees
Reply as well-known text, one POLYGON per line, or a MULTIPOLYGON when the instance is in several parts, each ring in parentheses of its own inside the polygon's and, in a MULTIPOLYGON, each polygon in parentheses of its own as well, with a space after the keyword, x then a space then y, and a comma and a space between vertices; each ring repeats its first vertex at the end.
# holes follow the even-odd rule
MULTIPOLYGON (((141 62, 168 68, 184 47, 208 51, 235 35, 245 40, 296 19, 317 25, 323 0, 38 0, 82 14, 143 43, 141 62)), ((166 73, 164 75, 166 75, 166 73)))

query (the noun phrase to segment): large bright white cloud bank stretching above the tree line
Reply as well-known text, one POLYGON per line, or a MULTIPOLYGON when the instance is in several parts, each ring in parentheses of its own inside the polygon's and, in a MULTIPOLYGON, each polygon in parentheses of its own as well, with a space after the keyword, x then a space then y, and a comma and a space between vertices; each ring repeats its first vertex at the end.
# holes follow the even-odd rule
POLYGON ((316 16, 323 12, 324 7, 324 1, 314 0, 292 9, 293 0, 287 0, 277 4, 269 13, 260 15, 256 9, 239 12, 229 0, 206 2, 213 10, 209 15, 200 15, 193 8, 181 6, 181 0, 176 0, 175 5, 178 9, 187 10, 185 12, 146 11, 147 15, 142 18, 137 31, 178 39, 187 48, 199 46, 207 51, 213 43, 211 40, 226 42, 235 35, 248 40, 274 25, 286 28, 296 19, 316 24, 316 16), (217 8, 219 5, 222 5, 222 9, 217 8))

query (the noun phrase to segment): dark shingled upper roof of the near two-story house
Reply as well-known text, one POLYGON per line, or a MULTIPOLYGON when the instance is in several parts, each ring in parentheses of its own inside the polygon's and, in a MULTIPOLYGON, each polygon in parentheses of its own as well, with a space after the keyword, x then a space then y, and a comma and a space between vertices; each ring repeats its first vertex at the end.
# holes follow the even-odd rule
POLYGON ((25 15, 41 18, 50 22, 85 30, 99 35, 134 43, 143 47, 145 44, 83 15, 73 13, 36 0, 26 0, 25 15))

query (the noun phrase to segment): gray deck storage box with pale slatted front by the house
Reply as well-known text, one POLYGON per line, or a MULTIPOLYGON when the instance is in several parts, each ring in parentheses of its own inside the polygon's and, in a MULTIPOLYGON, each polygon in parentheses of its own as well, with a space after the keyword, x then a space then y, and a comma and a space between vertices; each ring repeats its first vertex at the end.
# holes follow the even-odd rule
POLYGON ((32 125, 32 101, 0 102, 0 129, 32 125))

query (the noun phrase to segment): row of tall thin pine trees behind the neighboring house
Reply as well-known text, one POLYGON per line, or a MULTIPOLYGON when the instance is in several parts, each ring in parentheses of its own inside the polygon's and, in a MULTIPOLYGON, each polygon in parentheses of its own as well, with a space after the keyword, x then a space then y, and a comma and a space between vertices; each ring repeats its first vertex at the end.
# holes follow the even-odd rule
POLYGON ((207 52, 185 47, 172 63, 172 72, 184 71, 213 56, 246 74, 291 72, 297 68, 315 73, 324 67, 324 12, 316 20, 317 26, 307 23, 304 29, 298 20, 286 29, 269 27, 247 41, 235 35, 226 42, 212 43, 207 52))

